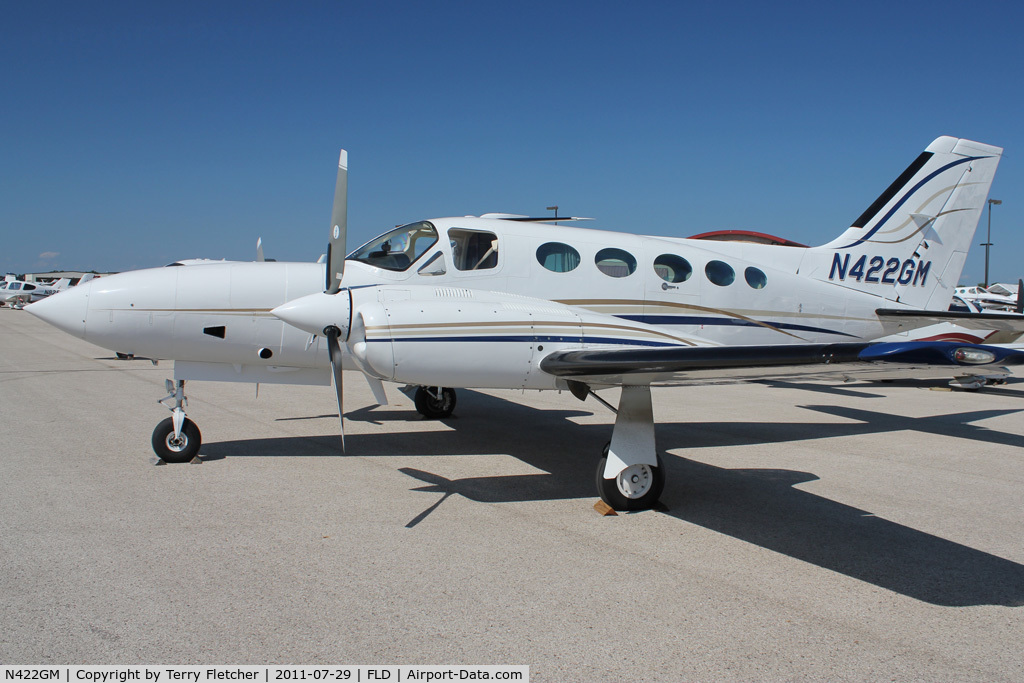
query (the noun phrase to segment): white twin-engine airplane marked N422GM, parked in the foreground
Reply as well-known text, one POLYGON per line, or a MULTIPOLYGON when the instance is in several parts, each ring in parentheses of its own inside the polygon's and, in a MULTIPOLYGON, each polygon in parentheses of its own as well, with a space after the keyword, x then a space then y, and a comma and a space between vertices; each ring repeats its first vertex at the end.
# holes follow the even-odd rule
POLYGON ((347 258, 342 152, 327 266, 174 264, 28 310, 104 348, 174 359, 164 399, 173 416, 153 435, 166 461, 200 449, 182 410, 185 380, 326 385, 333 369, 342 423, 342 369, 362 373, 382 404, 383 382, 415 388, 418 411, 433 418, 451 414, 459 387, 583 399, 617 386, 617 410, 605 402, 616 418, 598 489, 612 508, 644 509, 665 484, 652 385, 970 380, 1024 362, 994 346, 869 341, 953 318, 1024 330, 1012 314, 946 311, 1001 152, 936 139, 852 227, 810 249, 488 214, 403 225, 347 258))

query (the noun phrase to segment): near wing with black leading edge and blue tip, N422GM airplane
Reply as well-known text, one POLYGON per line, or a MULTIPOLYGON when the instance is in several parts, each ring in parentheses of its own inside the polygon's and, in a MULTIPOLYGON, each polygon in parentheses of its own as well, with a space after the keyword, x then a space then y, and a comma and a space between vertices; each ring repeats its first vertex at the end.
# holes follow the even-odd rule
POLYGON ((1024 351, 955 342, 565 350, 541 361, 588 384, 679 386, 771 379, 927 379, 1004 373, 1024 351))

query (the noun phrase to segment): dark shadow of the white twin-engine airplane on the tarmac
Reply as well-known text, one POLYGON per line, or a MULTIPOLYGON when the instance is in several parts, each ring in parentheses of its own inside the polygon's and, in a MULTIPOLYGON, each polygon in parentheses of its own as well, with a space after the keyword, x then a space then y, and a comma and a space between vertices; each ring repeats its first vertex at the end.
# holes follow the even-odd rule
MULTIPOLYGON (((348 453, 360 457, 507 454, 546 474, 450 480, 401 468, 426 484, 414 490, 441 495, 408 527, 421 523, 454 495, 480 503, 595 498, 597 454, 610 437, 610 416, 605 425, 579 425, 571 418, 589 416, 589 412, 538 410, 487 394, 461 393, 460 417, 444 421, 451 430, 429 435, 409 431, 347 434, 348 453), (534 428, 524 435, 522 425, 534 428)), ((726 469, 666 453, 904 430, 1024 449, 1024 436, 971 424, 1018 411, 908 418, 836 405, 803 408, 859 422, 658 423, 658 450, 669 477, 662 497, 666 509, 660 512, 924 602, 1024 606, 1024 565, 795 487, 817 479, 814 474, 726 469)), ((330 417, 337 419, 337 415, 330 417)), ((369 408, 350 416, 378 424, 418 418, 412 411, 369 408)), ((323 435, 223 441, 204 444, 202 454, 210 460, 333 457, 338 455, 338 441, 337 436, 323 435)))

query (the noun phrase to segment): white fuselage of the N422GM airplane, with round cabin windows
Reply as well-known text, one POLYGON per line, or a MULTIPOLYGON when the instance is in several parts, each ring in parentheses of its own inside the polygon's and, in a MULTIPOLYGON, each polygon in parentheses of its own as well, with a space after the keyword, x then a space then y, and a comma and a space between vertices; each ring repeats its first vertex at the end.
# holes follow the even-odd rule
MULTIPOLYGON (((385 296, 393 306, 402 292, 424 288, 450 303, 471 290, 477 300, 479 293, 528 297, 594 314, 567 330, 548 326, 541 334, 536 315, 517 316, 506 302, 500 314, 469 315, 465 334, 454 334, 451 326, 433 331, 454 342, 484 340, 481 331, 488 327, 506 350, 513 338, 536 341, 529 335, 575 341, 573 326, 587 326, 593 345, 786 344, 884 333, 873 314, 882 296, 802 274, 807 249, 469 217, 414 225, 419 227, 387 233, 395 243, 387 251, 374 251, 378 239, 346 261, 344 286, 353 308, 385 296), (487 251, 493 253, 484 256, 487 251)), ((122 353, 174 358, 179 377, 326 383, 330 364, 323 337, 311 339, 270 313, 323 291, 324 282, 319 263, 206 263, 103 278, 62 294, 60 301, 75 308, 68 332, 122 353)), ((355 368, 347 350, 345 366, 355 368)), ((450 378, 449 385, 481 382, 450 378)))

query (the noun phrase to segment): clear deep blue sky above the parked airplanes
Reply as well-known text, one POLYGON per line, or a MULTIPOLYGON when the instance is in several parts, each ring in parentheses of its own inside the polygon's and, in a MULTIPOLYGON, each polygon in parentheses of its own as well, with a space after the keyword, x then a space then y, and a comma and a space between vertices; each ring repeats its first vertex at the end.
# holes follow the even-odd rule
MULTIPOLYGON (((8 2, 0 269, 314 260, 486 211, 821 244, 935 137, 1006 147, 1024 275, 1019 2, 8 2), (714 6, 712 6, 714 5, 714 6)), ((985 218, 964 282, 982 279, 985 218)))

